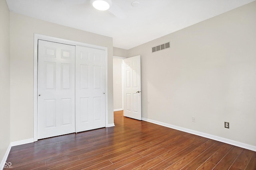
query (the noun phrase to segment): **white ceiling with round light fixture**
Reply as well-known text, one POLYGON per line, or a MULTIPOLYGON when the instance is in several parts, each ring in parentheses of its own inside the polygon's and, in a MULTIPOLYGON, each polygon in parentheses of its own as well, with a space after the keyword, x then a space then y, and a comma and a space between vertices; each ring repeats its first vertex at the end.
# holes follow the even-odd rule
POLYGON ((9 10, 113 38, 131 49, 254 0, 112 0, 99 11, 90 0, 6 0, 9 10), (132 6, 137 1, 138 6, 132 6))

